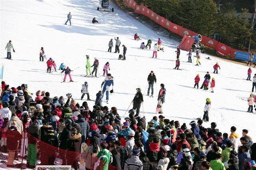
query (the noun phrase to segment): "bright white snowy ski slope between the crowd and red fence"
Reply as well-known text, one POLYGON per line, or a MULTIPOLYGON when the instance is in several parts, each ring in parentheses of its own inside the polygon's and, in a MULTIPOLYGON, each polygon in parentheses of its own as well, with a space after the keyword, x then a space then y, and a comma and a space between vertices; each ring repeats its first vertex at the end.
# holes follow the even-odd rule
MULTIPOLYGON (((151 70, 157 78, 155 95, 158 94, 160 83, 166 87, 166 103, 164 103, 164 116, 180 123, 188 123, 194 118, 202 117, 206 98, 212 101, 209 112, 210 121, 204 127, 210 127, 211 122, 217 123, 217 128, 222 133, 230 133, 230 127, 237 127, 237 132, 242 135, 242 129, 247 128, 249 135, 256 139, 256 115, 247 113, 247 99, 251 93, 252 82, 246 81, 246 66, 221 61, 211 57, 206 60, 206 54, 201 55, 200 66, 192 63, 181 62, 183 71, 174 70, 175 50, 178 42, 158 35, 143 24, 132 19, 114 7, 115 12, 99 12, 97 0, 72 1, 72 0, 30 0, 30 1, 1 1, 1 40, 0 63, 4 65, 4 81, 11 87, 22 83, 28 84, 28 89, 34 94, 39 89, 49 91, 50 96, 65 96, 72 93, 74 99, 80 104, 80 90, 84 81, 89 83, 91 99, 96 98, 96 93, 101 90, 100 85, 104 77, 86 78, 78 75, 85 74, 85 55, 90 55, 93 63, 94 57, 100 61, 98 72, 102 75, 104 64, 110 62, 110 73, 114 77, 114 93, 110 96, 108 107, 117 107, 121 116, 129 107, 136 88, 140 87, 142 93, 147 86, 147 76, 151 70), (72 14, 72 26, 66 26, 66 16, 72 14), (96 17, 102 24, 92 24, 96 17), (133 39, 135 33, 143 39, 139 42, 133 39), (127 47, 126 61, 117 60, 118 53, 106 52, 111 38, 119 37, 122 44, 127 47), (162 39, 165 51, 158 52, 158 59, 151 59, 151 49, 140 49, 141 42, 148 39, 156 43, 162 39), (4 59, 6 43, 12 40, 16 53, 12 53, 13 60, 4 59), (79 67, 72 72, 74 83, 60 83, 60 71, 52 74, 46 73, 46 62, 39 62, 40 47, 44 47, 47 57, 52 57, 57 63, 64 62, 71 69, 79 67), (213 65, 219 62, 220 74, 213 74, 213 65), (214 93, 193 89, 194 77, 200 74, 200 85, 206 71, 216 80, 214 93)), ((115 42, 114 42, 115 43, 115 42)), ((122 51, 122 47, 120 49, 122 51)), ((181 51, 181 61, 187 61, 187 52, 181 51)), ((193 54, 194 55, 194 54, 193 54)), ((253 72, 256 70, 252 68, 253 72)), ((67 78, 67 80, 69 80, 67 78)), ((145 93, 146 94, 146 93, 145 93)), ((35 97, 35 96, 33 96, 35 97)), ((105 99, 105 98, 104 98, 105 99)), ((88 102, 90 107, 93 101, 88 102)), ((157 98, 144 96, 141 114, 150 121, 155 116, 157 98)), ((131 108, 131 107, 130 107, 131 108)), ((129 108, 129 109, 130 109, 129 108)), ((254 111, 255 112, 255 111, 254 111)), ((126 113, 125 116, 128 116, 126 113)), ((157 115, 158 116, 158 115, 157 115)))

